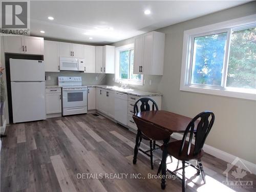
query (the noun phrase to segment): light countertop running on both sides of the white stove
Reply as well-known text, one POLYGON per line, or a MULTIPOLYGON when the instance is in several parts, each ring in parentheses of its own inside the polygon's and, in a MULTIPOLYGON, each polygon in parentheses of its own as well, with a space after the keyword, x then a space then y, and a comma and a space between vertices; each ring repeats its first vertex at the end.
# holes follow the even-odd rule
MULTIPOLYGON (((123 89, 117 86, 108 86, 108 85, 102 85, 102 84, 83 84, 82 86, 87 86, 87 87, 94 87, 94 88, 102 88, 110 91, 116 91, 119 93, 126 93, 129 95, 134 95, 134 96, 139 96, 139 97, 149 97, 149 96, 162 96, 161 93, 152 93, 152 92, 147 92, 147 91, 140 91, 140 90, 135 90, 135 89, 123 89)), ((61 86, 58 85, 51 85, 51 86, 46 86, 46 88, 61 88, 61 86)))

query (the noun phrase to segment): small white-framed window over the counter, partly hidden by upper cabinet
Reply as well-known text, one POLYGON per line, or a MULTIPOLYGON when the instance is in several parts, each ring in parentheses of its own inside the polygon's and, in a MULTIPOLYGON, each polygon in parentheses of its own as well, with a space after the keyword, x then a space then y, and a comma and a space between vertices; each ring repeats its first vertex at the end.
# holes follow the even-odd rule
POLYGON ((134 45, 116 48, 115 82, 142 85, 143 75, 133 74, 134 45))

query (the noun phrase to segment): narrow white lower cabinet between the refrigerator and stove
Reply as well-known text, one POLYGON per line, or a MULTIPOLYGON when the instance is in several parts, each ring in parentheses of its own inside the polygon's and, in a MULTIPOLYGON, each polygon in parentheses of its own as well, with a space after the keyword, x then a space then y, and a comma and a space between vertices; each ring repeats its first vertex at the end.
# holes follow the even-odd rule
POLYGON ((46 88, 46 114, 48 118, 61 116, 60 88, 46 88))

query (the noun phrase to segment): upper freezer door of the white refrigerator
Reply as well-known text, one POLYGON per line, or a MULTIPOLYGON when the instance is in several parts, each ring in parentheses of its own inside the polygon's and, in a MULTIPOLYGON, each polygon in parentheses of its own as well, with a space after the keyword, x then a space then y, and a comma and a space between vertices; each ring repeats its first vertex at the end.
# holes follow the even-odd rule
POLYGON ((45 81, 44 61, 10 59, 11 81, 45 81))

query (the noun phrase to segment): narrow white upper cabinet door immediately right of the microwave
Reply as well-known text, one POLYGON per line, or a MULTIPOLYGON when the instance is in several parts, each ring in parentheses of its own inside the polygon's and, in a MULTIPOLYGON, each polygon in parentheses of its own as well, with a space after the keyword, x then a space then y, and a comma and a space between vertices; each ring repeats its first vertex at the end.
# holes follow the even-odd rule
POLYGON ((84 73, 95 73, 95 46, 84 46, 84 73))

